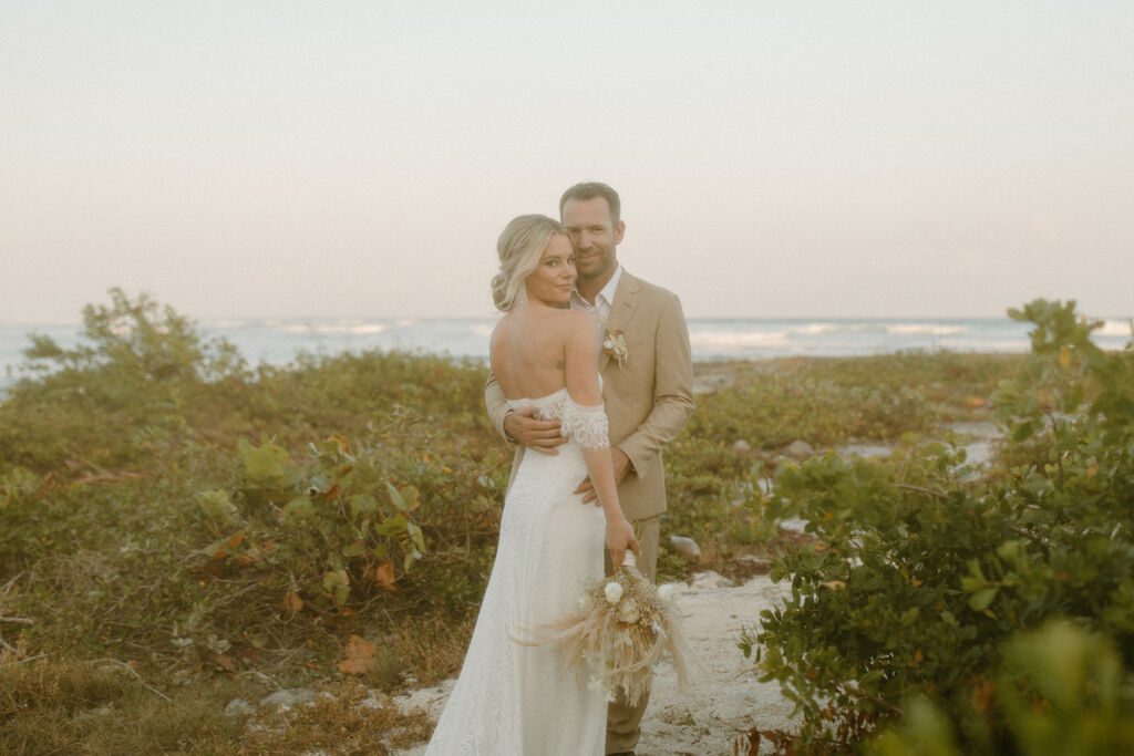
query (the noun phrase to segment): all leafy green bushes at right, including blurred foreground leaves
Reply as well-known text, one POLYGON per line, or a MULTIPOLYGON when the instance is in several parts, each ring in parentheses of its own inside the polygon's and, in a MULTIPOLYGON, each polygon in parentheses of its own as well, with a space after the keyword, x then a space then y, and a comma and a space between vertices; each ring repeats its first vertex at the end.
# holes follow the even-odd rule
POLYGON ((778 470, 770 516, 813 541, 775 562, 790 595, 743 643, 803 715, 796 747, 883 724, 872 753, 1055 753, 1059 728, 1085 738, 1060 753, 1134 747, 1134 348, 1099 349, 1074 303, 1010 315, 1032 355, 990 397, 992 469, 928 443, 778 470))

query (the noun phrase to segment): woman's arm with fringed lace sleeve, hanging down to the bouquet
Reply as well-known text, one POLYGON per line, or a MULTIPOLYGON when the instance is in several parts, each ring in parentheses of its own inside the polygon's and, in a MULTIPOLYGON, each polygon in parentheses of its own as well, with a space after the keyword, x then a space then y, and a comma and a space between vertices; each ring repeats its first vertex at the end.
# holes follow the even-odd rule
POLYGON ((578 419, 586 423, 586 430, 591 431, 579 434, 582 438, 575 440, 583 449, 587 475, 607 516, 607 549, 610 550, 610 561, 617 570, 627 549, 638 553, 638 543, 618 501, 607 416, 602 408, 602 389, 599 387, 599 337, 590 317, 582 313, 579 315, 582 317, 570 318, 575 328, 569 330, 564 350, 567 394, 577 405, 569 411, 578 413, 578 419), (598 432, 600 427, 601 432, 598 432))

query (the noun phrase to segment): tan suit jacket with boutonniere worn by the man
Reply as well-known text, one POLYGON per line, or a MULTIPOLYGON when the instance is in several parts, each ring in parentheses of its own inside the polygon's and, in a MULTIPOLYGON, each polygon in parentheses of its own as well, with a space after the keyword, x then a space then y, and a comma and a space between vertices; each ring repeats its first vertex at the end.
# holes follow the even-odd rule
MULTIPOLYGON (((599 372, 610 419, 610 443, 626 452, 634 466, 618 484, 623 512, 634 521, 666 511, 661 448, 678 434, 693 411, 689 332, 677 296, 631 275, 626 269, 615 290, 607 331, 621 331, 626 338, 628 358, 623 366, 603 350, 599 372)), ((507 439, 503 418, 508 402, 491 374, 484 404, 492 423, 507 439)), ((517 444, 513 478, 524 452, 524 447, 517 444)))

